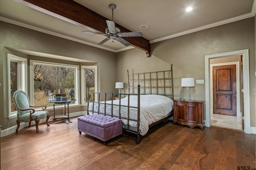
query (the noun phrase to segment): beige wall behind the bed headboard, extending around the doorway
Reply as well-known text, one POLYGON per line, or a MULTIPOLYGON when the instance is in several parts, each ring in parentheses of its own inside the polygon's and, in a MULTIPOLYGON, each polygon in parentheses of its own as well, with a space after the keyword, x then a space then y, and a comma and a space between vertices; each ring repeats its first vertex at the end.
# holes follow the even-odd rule
MULTIPOLYGON (((256 127, 254 21, 255 18, 248 18, 152 43, 150 58, 138 49, 119 52, 116 56, 117 80, 127 82, 127 69, 129 72, 167 70, 173 64, 174 99, 185 98, 184 88, 180 86, 181 78, 205 80, 205 55, 249 49, 250 125, 256 127)), ((205 100, 205 84, 195 84, 191 90, 191 99, 205 100)))

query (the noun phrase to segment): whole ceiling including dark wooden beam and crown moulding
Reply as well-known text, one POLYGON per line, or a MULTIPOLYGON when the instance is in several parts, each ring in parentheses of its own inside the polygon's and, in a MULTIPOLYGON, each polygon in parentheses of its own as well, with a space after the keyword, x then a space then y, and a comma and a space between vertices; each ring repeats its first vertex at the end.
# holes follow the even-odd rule
POLYGON ((2 21, 114 52, 136 47, 148 57, 150 43, 252 16, 255 0, 0 0, 2 21), (142 31, 142 37, 124 37, 128 47, 116 40, 97 45, 104 35, 81 32, 104 33, 110 4, 116 4, 113 21, 121 32, 142 31))

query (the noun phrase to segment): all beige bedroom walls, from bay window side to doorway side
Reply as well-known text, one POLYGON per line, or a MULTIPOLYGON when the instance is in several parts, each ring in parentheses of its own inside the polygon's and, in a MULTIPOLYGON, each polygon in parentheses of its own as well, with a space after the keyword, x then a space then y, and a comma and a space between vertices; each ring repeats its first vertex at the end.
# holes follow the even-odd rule
MULTIPOLYGON (((33 31, 5 22, 0 22, 0 125, 6 129, 16 125, 16 119, 8 115, 7 61, 8 47, 94 61, 98 63, 100 92, 113 92, 114 82, 125 82, 127 90, 127 69, 129 72, 150 72, 169 70, 173 64, 174 98, 185 98, 181 78, 205 79, 204 56, 228 51, 249 49, 250 55, 250 118, 255 125, 255 18, 236 21, 226 25, 198 31, 151 44, 151 57, 144 51, 130 49, 112 53, 74 41, 33 31), (5 48, 7 47, 7 48, 5 48), (112 83, 111 83, 112 82, 112 83)), ((22 54, 21 54, 22 55, 22 54)), ((25 56, 32 59, 33 56, 25 56), (32 57, 32 58, 31 58, 32 57)), ((53 61, 53 60, 52 60, 53 61)), ((205 85, 196 84, 191 89, 193 100, 205 100, 205 85)), ((72 111, 83 110, 74 108, 72 111)))

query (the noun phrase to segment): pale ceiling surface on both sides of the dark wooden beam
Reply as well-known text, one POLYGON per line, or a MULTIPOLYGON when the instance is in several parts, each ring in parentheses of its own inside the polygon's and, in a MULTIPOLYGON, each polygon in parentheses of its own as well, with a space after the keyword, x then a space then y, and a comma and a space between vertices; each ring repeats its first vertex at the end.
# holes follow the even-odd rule
MULTIPOLYGON (((118 41, 107 41, 104 35, 81 33, 88 31, 20 3, 22 0, 0 0, 0 20, 49 33, 113 52, 125 47, 118 41)), ((109 4, 116 4, 114 21, 131 30, 142 31, 150 43, 207 29, 255 15, 255 0, 74 0, 112 20, 109 4), (185 12, 192 6, 194 10, 185 12), (140 29, 147 25, 147 29, 140 29)), ((106 25, 107 27, 107 25, 106 25)))

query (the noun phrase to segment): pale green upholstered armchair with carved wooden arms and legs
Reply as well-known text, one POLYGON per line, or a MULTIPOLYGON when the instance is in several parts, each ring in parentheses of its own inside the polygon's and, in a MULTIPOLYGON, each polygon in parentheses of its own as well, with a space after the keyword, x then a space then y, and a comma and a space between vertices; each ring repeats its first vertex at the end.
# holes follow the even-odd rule
POLYGON ((20 121, 29 122, 28 127, 30 127, 31 121, 34 120, 36 122, 36 132, 39 132, 38 124, 40 119, 46 118, 46 125, 50 126, 48 123, 50 114, 48 113, 48 111, 44 111, 46 109, 46 106, 30 106, 28 95, 24 91, 17 90, 16 92, 14 92, 13 101, 17 109, 18 127, 16 129, 16 133, 18 133, 20 121), (42 111, 35 111, 35 109, 32 109, 30 107, 42 107, 42 111))

